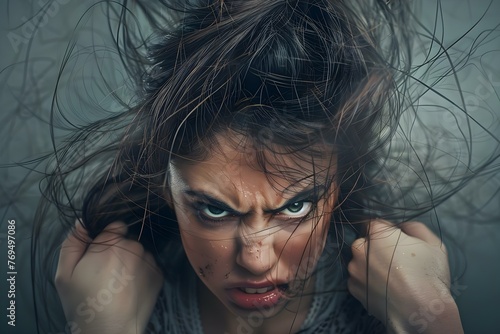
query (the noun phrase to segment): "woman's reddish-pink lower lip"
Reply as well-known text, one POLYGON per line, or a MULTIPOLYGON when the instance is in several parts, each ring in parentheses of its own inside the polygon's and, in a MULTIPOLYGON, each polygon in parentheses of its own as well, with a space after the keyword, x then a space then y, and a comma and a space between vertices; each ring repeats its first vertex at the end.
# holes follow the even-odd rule
POLYGON ((227 290, 230 300, 245 310, 273 307, 284 299, 283 292, 277 287, 265 293, 246 293, 238 288, 227 290))

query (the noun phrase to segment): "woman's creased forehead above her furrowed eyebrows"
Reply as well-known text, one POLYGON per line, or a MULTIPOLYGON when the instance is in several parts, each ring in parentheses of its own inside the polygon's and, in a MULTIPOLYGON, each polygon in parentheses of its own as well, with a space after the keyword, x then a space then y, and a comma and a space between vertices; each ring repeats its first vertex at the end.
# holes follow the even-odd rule
POLYGON ((325 185, 335 174, 336 159, 326 146, 315 149, 324 154, 313 156, 280 146, 256 147, 251 140, 234 134, 217 136, 216 141, 203 160, 175 159, 170 168, 172 176, 191 188, 293 193, 325 185))

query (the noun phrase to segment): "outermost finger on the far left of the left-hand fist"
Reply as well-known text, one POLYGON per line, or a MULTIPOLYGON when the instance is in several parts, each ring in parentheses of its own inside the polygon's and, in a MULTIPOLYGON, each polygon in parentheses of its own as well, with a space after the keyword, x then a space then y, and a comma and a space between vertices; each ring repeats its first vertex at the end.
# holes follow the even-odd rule
POLYGON ((81 221, 77 220, 75 228, 61 245, 56 279, 67 279, 71 276, 91 241, 87 230, 81 221))

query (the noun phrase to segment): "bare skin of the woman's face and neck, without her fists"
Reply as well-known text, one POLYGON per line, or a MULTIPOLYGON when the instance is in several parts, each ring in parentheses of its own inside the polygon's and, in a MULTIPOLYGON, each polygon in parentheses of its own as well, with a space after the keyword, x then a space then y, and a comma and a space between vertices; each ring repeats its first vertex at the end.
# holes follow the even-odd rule
POLYGON ((326 175, 334 173, 330 165, 334 160, 318 159, 313 166, 291 157, 276 158, 283 168, 302 171, 297 183, 277 171, 269 177, 244 147, 219 140, 220 152, 205 161, 170 166, 171 198, 182 242, 203 282, 199 299, 204 330, 238 333, 243 330, 241 319, 248 322, 254 314, 255 334, 296 332, 309 311, 314 291, 310 273, 323 251, 336 199, 333 195, 313 200, 312 181, 324 183, 326 175), (321 172, 315 175, 313 167, 321 172), (207 206, 205 196, 223 205, 207 206), (311 212, 312 201, 317 214, 302 220, 311 212), (206 219, 211 216, 217 220, 206 219), (243 310, 228 292, 260 282, 292 287, 304 280, 304 291, 265 310, 257 306, 243 310))

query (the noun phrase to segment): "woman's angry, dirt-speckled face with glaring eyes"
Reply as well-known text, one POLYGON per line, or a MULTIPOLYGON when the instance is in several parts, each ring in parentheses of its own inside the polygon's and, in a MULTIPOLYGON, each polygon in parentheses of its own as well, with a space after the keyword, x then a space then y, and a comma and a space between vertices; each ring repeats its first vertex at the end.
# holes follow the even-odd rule
POLYGON ((312 288, 309 278, 336 200, 324 184, 335 167, 330 158, 312 163, 280 155, 270 159, 279 170, 266 174, 254 151, 222 138, 219 143, 204 161, 170 166, 182 243, 200 279, 228 310, 260 309, 271 317, 312 288))

